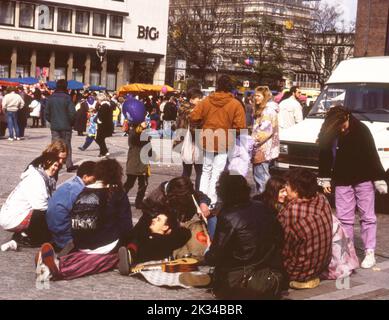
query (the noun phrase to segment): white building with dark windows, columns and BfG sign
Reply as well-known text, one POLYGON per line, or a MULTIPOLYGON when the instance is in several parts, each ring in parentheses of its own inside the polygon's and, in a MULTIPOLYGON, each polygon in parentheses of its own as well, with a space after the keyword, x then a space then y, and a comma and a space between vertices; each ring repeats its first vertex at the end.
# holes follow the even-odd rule
POLYGON ((169 0, 0 2, 0 78, 66 78, 109 90, 165 82, 169 0), (147 12, 147 14, 145 14, 147 12))

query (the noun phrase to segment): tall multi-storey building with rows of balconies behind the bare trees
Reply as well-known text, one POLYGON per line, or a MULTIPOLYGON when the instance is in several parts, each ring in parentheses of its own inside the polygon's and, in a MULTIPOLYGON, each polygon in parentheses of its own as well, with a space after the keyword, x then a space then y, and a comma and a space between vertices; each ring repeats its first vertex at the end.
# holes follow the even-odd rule
MULTIPOLYGON (((212 2, 212 1, 211 1, 212 2)), ((187 3, 186 0, 173 0, 170 2, 170 16, 177 14, 176 7, 179 4, 187 3)), ((191 2, 193 4, 196 1, 191 2)), ((245 64, 245 60, 253 57, 258 62, 258 43, 254 41, 255 31, 250 22, 258 24, 269 18, 280 28, 280 37, 283 41, 282 69, 284 77, 293 77, 300 71, 296 62, 303 59, 303 52, 299 50, 299 37, 301 30, 307 29, 312 21, 312 1, 303 0, 229 0, 221 1, 221 9, 227 10, 225 23, 225 34, 215 50, 218 59, 218 71, 229 73, 244 80, 253 76, 252 66, 245 64)), ((188 9, 189 10, 189 9, 188 9)), ((204 9, 206 10, 206 9, 204 9)), ((264 41, 263 50, 266 53, 270 41, 264 41)), ((169 50, 169 49, 168 49, 169 50)), ((175 56, 168 51, 168 69, 170 79, 174 73, 175 56)), ((187 64, 190 74, 190 63, 187 64)), ((207 79, 215 82, 215 68, 210 66, 207 79)), ((170 81, 172 82, 172 81, 170 81)))

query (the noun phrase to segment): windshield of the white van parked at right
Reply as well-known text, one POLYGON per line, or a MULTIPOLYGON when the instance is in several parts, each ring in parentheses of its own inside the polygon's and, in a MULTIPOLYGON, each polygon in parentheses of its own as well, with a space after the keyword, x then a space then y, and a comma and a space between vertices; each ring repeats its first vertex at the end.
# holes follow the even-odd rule
POLYGON ((389 122, 389 84, 333 84, 324 88, 309 118, 323 118, 329 108, 344 105, 359 120, 389 122))

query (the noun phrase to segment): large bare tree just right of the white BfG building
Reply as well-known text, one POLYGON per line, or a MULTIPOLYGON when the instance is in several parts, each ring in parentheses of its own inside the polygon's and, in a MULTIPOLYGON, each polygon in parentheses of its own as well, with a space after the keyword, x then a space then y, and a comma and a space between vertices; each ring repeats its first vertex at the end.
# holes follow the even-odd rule
POLYGON ((172 0, 170 7, 169 54, 185 59, 204 83, 228 32, 230 4, 222 0, 172 0))

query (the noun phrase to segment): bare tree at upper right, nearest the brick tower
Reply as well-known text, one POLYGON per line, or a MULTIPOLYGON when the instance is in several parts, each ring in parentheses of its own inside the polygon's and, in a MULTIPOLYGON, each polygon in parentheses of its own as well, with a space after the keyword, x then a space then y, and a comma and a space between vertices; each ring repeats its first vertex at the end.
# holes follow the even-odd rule
POLYGON ((306 59, 299 66, 316 77, 322 88, 332 71, 351 57, 354 49, 354 25, 347 27, 342 15, 338 5, 316 3, 312 23, 300 33, 306 59))

